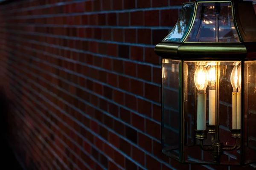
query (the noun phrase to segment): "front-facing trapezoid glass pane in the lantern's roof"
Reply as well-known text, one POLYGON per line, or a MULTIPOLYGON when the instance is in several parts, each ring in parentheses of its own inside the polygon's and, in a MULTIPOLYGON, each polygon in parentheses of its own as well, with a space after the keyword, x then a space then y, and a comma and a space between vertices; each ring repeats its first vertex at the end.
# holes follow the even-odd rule
POLYGON ((186 42, 240 42, 231 3, 198 3, 186 42))

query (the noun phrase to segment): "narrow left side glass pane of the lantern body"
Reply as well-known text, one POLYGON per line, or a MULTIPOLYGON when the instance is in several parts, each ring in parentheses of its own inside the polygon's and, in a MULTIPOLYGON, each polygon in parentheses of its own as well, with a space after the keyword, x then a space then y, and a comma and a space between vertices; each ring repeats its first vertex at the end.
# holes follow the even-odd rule
POLYGON ((168 156, 179 159, 180 61, 162 60, 162 147, 168 156))

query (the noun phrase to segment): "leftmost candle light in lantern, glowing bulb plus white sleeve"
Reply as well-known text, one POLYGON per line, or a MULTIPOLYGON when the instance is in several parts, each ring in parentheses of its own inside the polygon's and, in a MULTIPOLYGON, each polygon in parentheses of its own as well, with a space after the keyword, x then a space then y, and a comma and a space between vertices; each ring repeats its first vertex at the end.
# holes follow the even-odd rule
POLYGON ((195 86, 198 89, 197 100, 197 130, 206 130, 206 93, 205 90, 208 85, 208 73, 206 68, 198 65, 195 71, 195 86))

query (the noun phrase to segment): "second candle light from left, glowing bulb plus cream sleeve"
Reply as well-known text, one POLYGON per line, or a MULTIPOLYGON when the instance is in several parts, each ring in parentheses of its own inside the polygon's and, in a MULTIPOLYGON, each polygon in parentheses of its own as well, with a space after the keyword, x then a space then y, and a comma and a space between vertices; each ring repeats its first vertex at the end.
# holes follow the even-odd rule
POLYGON ((210 62, 208 66, 209 76, 209 125, 215 125, 216 115, 216 62, 210 62))

